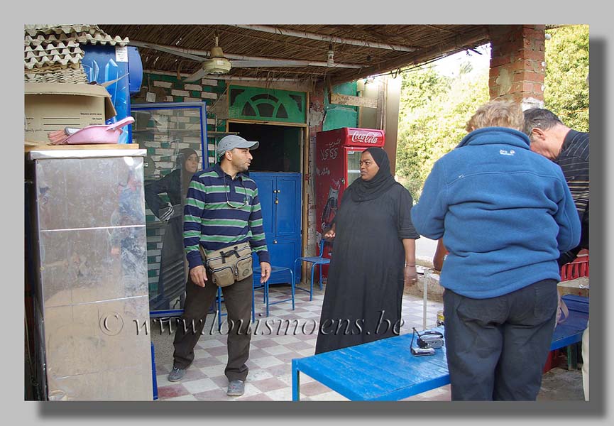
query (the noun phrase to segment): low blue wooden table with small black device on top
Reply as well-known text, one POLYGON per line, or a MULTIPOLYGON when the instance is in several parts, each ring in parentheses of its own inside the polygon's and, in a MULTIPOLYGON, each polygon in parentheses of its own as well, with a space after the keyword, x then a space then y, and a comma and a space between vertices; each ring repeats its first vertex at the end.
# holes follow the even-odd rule
MULTIPOLYGON (((569 317, 555 329, 551 350, 581 342, 588 321, 588 297, 577 297, 564 296, 569 317)), ((449 384, 445 345, 435 349, 435 355, 413 356, 411 342, 411 333, 402 334, 292 359, 292 400, 300 400, 300 373, 349 400, 400 400, 449 384)))

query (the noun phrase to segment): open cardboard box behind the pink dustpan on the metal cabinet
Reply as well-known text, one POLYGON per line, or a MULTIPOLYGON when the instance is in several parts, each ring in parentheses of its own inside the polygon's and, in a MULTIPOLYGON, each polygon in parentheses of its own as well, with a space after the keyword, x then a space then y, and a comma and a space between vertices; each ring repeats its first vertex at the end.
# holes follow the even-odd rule
POLYGON ((111 95, 102 86, 26 83, 26 141, 49 143, 51 131, 104 124, 116 114, 111 95))

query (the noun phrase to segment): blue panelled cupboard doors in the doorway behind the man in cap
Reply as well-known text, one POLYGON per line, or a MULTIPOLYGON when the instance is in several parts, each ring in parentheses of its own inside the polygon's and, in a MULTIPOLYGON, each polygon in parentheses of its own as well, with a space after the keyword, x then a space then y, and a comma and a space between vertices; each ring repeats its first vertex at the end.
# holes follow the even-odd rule
MULTIPOLYGON (((253 172, 250 177, 258 185, 271 265, 292 269, 295 258, 300 256, 301 175, 253 172)), ((287 276, 277 277, 275 273, 269 280, 270 284, 286 282, 287 276)))

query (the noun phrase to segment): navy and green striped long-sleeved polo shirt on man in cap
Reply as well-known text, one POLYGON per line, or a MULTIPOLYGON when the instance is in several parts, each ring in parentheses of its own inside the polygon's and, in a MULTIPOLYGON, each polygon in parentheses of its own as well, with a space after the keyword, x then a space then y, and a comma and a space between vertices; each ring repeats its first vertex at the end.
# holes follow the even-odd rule
POLYGON ((190 268, 202 265, 199 244, 208 254, 245 241, 261 262, 270 262, 256 182, 245 173, 233 180, 219 163, 195 173, 183 210, 183 246, 190 268))

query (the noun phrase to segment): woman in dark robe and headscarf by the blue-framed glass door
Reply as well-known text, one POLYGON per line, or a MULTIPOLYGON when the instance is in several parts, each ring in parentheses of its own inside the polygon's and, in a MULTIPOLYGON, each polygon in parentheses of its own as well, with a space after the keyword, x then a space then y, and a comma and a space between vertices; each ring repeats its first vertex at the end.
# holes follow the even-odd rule
POLYGON ((145 186, 145 200, 149 209, 165 223, 160 273, 158 275, 158 298, 151 301, 150 309, 170 309, 170 302, 180 297, 180 308, 185 291, 185 266, 183 253, 183 205, 192 175, 198 170, 198 153, 192 148, 183 148, 177 154, 175 170, 145 186), (160 194, 168 195, 165 203, 160 194))

